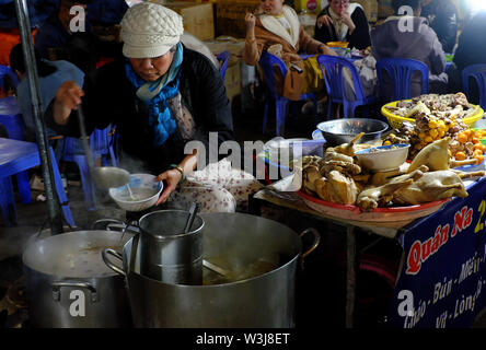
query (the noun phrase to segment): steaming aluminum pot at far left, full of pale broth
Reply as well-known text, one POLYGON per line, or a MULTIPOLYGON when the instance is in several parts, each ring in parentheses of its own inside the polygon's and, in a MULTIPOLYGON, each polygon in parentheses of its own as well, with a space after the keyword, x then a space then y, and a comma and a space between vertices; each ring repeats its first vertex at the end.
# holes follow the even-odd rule
POLYGON ((131 327, 125 280, 101 250, 131 237, 114 231, 78 231, 33 240, 22 259, 33 327, 131 327))

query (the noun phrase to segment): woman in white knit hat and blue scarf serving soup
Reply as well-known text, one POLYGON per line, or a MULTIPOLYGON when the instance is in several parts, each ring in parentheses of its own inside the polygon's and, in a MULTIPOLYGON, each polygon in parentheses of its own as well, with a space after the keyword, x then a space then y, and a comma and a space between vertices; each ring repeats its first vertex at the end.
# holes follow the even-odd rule
MULTIPOLYGON (((202 211, 234 211, 239 199, 233 191, 216 187, 215 176, 194 172, 198 152, 184 152, 193 140, 211 151, 211 131, 218 132, 218 143, 233 139, 230 103, 219 72, 180 42, 183 21, 170 9, 141 2, 127 10, 120 24, 124 57, 88 77, 82 89, 73 82, 62 84, 47 108, 47 124, 59 133, 79 135, 77 118, 70 116, 82 101, 88 132, 116 125, 121 166, 159 174, 157 180, 166 183, 157 205, 172 195, 181 207, 206 198, 202 211)), ((219 165, 228 165, 224 161, 219 165)), ((231 166, 228 172, 234 175, 231 166)), ((253 177, 245 184, 259 187, 253 177)))

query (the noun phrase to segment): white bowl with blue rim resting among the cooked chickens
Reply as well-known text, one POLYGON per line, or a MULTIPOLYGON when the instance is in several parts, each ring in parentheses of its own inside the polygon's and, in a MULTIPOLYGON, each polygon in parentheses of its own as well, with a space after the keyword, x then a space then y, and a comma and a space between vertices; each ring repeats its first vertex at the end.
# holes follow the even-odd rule
POLYGON ((362 167, 372 172, 398 168, 407 160, 409 144, 389 144, 364 149, 355 153, 362 167))

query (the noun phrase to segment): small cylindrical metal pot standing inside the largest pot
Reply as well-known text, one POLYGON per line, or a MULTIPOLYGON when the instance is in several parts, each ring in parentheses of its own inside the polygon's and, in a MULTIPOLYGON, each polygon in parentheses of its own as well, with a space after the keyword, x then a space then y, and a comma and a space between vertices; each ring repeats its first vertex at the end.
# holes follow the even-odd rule
POLYGON ((196 215, 184 233, 189 212, 158 210, 140 218, 140 272, 158 281, 201 284, 204 220, 196 215))

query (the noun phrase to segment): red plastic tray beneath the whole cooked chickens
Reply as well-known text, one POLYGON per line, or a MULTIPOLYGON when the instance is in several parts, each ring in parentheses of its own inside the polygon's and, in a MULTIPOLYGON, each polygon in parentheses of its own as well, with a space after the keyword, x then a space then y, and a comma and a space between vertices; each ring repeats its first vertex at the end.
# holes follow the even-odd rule
POLYGON ((320 198, 306 195, 301 190, 298 191, 298 195, 309 208, 329 217, 366 222, 401 222, 401 224, 430 215, 442 208, 443 203, 450 200, 450 198, 445 198, 417 206, 377 208, 364 211, 357 206, 344 206, 324 201, 320 198))

